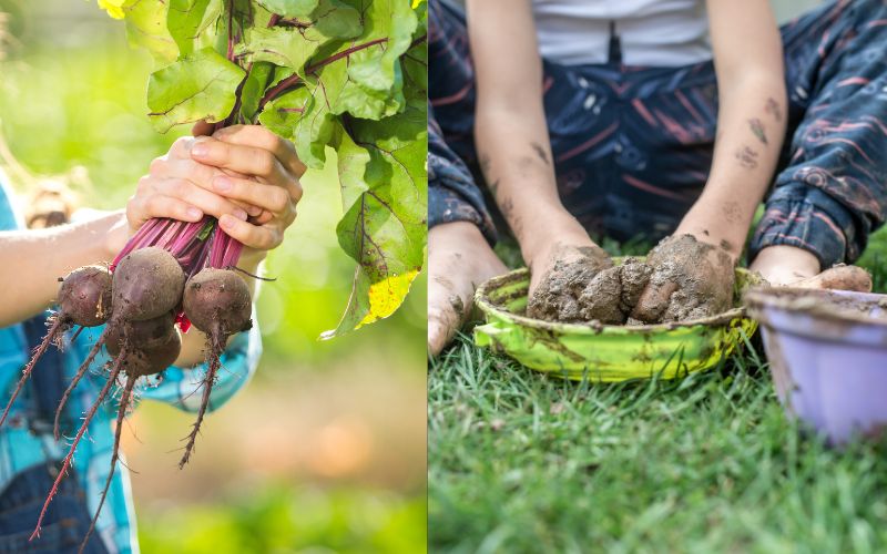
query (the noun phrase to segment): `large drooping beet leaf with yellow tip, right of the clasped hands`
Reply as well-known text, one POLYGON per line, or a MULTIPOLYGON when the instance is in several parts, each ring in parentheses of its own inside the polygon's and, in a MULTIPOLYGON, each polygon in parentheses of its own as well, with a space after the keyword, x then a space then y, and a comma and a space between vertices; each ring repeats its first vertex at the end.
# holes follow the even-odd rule
POLYGON ((339 175, 347 211, 336 233, 358 265, 345 314, 323 338, 391 315, 421 270, 428 206, 426 125, 425 104, 416 102, 378 122, 349 121, 348 136, 341 135, 339 175))

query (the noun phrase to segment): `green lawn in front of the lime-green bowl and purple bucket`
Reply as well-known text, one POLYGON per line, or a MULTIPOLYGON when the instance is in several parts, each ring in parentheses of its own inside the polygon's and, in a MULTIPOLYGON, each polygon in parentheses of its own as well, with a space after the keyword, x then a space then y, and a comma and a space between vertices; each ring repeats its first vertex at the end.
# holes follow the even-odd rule
MULTIPOLYGON (((887 235, 864 261, 881 287, 887 235)), ((475 348, 432 360, 434 552, 884 552, 887 442, 783 416, 763 349, 681 381, 563 382, 475 348)))

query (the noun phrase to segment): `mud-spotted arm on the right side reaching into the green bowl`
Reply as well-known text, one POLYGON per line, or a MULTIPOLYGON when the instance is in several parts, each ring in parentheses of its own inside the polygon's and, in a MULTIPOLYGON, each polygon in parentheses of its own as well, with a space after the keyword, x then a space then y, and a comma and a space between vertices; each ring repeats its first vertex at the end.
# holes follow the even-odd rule
MULTIPOLYGON (((714 248, 707 250, 708 264, 692 256, 664 257, 672 263, 685 259, 680 271, 711 286, 714 297, 724 297, 731 294, 733 276, 720 270, 722 257, 726 254, 735 264, 742 253, 776 167, 787 100, 782 40, 769 2, 706 3, 720 99, 717 135, 708 181, 675 235, 693 235, 714 248)), ((663 245, 661 249, 667 248, 663 245)), ((666 280, 651 281, 656 285, 642 294, 635 317, 654 320, 665 309, 672 293, 680 288, 666 280)))

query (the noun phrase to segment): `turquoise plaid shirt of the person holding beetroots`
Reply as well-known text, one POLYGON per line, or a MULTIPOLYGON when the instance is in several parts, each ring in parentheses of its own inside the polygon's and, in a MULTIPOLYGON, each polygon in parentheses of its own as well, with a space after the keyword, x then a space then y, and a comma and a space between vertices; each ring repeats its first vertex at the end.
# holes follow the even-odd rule
MULTIPOLYGON (((0 230, 22 228, 21 218, 12 204, 12 193, 0 178, 0 230)), ((254 318, 255 319, 255 318, 254 318)), ((64 371, 69 379, 74 376, 81 362, 86 358, 103 327, 85 329, 77 341, 70 343, 70 334, 65 338, 64 371)), ((223 371, 218 372, 218 381, 213 388, 210 409, 215 409, 231 399, 252 377, 262 353, 262 340, 258 326, 248 334, 236 336, 222 358, 223 371)), ((29 357, 28 345, 21 325, 0 328, 0 402, 9 401, 23 366, 29 357)), ((102 351, 92 363, 88 378, 81 380, 67 407, 65 416, 79 422, 83 412, 93 403, 99 391, 106 382, 101 368, 109 361, 102 351)), ((160 383, 142 382, 136 384, 137 399, 150 399, 172 404, 187 412, 200 408, 201 393, 197 392, 206 366, 192 369, 170 367, 164 371, 160 383), (196 392, 196 393, 195 393, 196 392)), ((143 379, 144 380, 144 379, 143 379)), ((119 394, 118 394, 119 397, 119 394)), ((2 489, 20 471, 47 460, 61 460, 68 452, 71 438, 62 438, 57 442, 52 434, 33 434, 29 428, 26 408, 29 406, 30 390, 24 388, 10 411, 9 419, 0 429, 0 494, 2 489)), ((105 401, 90 423, 89 434, 78 445, 74 454, 75 474, 86 491, 91 514, 99 504, 99 497, 111 465, 111 449, 114 443, 112 423, 116 419, 116 401, 105 401)), ((182 430, 183 433, 187 430, 182 430)), ((171 460, 171 468, 174 465, 171 460)), ((171 470, 172 471, 172 470, 171 470)), ((49 491, 47 491, 49 493, 49 491)), ((37 522, 34 522, 37 523, 37 522)), ((96 524, 96 533, 105 546, 114 553, 139 552, 135 534, 135 521, 132 507, 132 491, 125 466, 118 462, 116 472, 108 493, 102 514, 96 524)))

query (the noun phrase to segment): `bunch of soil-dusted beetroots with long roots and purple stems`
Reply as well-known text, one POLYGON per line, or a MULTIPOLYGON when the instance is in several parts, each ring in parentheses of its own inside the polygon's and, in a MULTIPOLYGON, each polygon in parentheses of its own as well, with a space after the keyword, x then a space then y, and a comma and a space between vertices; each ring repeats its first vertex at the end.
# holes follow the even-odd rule
POLYGON ((85 266, 61 279, 59 311, 24 368, 16 391, 0 416, 0 425, 6 421, 38 359, 50 343, 61 343, 65 331, 75 326, 82 330, 105 325, 61 399, 55 412, 57 440, 64 404, 102 347, 108 350, 111 361, 103 368, 108 381, 74 435, 62 470, 43 504, 32 538, 39 535, 47 509, 73 461, 74 451, 90 421, 102 402, 112 394, 113 386, 122 382, 111 471, 81 550, 86 544, 114 474, 123 419, 132 403, 135 381, 140 377, 161 373, 172 365, 182 349, 180 329, 185 332, 193 324, 206 334, 208 369, 202 383, 203 398, 196 421, 184 439, 186 443, 180 468, 187 463, 210 403, 210 393, 221 367, 220 356, 227 339, 252 327, 249 290, 233 270, 241 249, 242 245, 222 232, 214 218, 207 217, 200 223, 152 219, 130 240, 110 268, 85 266))

